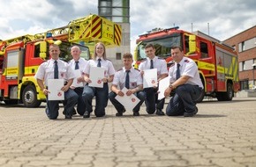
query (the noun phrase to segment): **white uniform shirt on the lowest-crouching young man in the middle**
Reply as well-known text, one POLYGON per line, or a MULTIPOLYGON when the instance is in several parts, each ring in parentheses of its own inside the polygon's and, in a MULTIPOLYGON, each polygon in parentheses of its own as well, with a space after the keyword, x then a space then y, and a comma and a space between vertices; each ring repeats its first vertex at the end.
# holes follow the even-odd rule
MULTIPOLYGON (((122 90, 125 87, 125 78, 126 78, 126 70, 123 68, 116 72, 112 84, 119 86, 120 90, 122 90)), ((134 68, 130 69, 129 81, 130 81, 130 89, 136 88, 138 85, 142 84, 142 77, 140 75, 139 70, 134 68)))

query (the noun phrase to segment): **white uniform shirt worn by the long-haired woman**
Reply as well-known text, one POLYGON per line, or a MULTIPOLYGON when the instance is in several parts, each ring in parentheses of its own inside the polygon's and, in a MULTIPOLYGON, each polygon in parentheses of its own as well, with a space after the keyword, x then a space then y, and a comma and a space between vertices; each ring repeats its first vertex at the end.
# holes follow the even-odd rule
MULTIPOLYGON (((116 71, 114 69, 112 62, 110 62, 109 60, 104 60, 103 58, 101 59, 102 59, 101 67, 105 69, 104 76, 108 77, 108 76, 115 75, 116 71)), ((90 75, 91 67, 97 67, 97 64, 98 64, 98 58, 96 60, 89 60, 87 62, 87 67, 83 70, 84 74, 90 75)))

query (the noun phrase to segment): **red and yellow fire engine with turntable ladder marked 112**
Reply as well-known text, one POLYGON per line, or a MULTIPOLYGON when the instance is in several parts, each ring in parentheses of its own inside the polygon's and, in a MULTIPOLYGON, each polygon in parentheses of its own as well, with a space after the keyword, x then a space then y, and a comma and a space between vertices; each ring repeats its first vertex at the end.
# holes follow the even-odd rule
POLYGON ((119 46, 121 33, 120 25, 89 15, 45 33, 0 40, 0 101, 6 105, 22 103, 26 107, 37 107, 45 101, 34 74, 41 62, 49 60, 49 45, 59 45, 60 59, 66 62, 72 59, 69 49, 73 45, 78 45, 81 57, 88 59, 87 45, 101 41, 106 47, 119 46))

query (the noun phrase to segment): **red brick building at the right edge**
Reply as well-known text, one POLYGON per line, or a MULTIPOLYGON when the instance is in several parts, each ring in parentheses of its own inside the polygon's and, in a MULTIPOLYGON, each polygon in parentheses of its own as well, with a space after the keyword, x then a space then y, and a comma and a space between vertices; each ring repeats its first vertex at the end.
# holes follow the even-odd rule
POLYGON ((241 90, 256 89, 256 25, 224 40, 237 50, 241 90))

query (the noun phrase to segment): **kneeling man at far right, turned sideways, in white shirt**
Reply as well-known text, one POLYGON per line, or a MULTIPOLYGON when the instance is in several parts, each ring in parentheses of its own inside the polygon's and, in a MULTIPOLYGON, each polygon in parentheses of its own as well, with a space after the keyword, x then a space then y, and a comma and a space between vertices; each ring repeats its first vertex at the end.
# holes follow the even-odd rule
POLYGON ((198 113, 196 101, 201 98, 204 88, 198 66, 192 59, 184 57, 182 47, 172 47, 171 56, 175 63, 169 68, 170 84, 164 95, 169 96, 171 91, 175 93, 169 100, 166 114, 192 117, 198 113))

